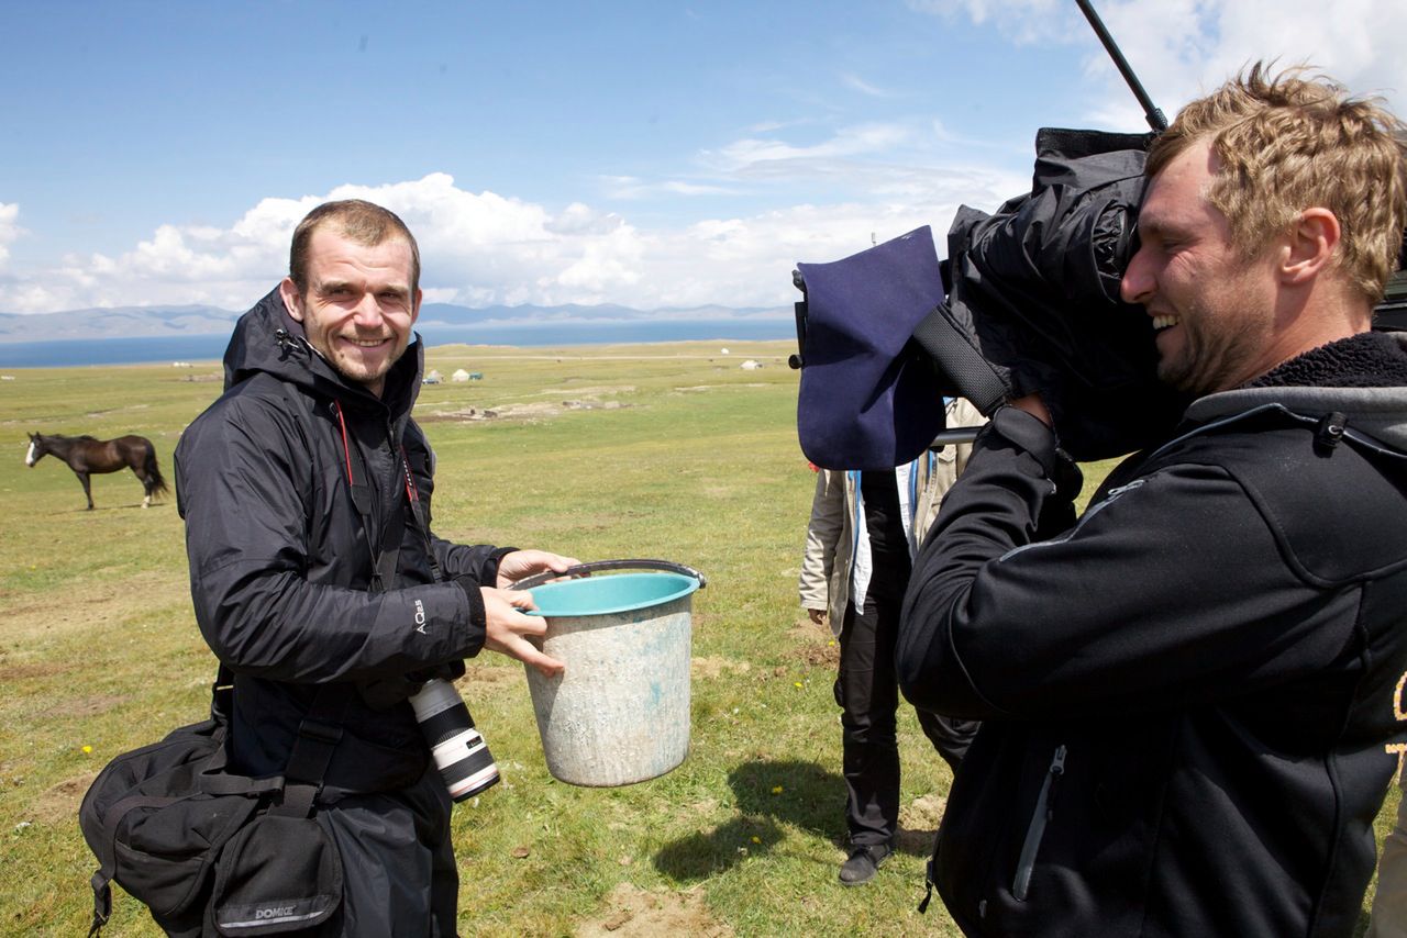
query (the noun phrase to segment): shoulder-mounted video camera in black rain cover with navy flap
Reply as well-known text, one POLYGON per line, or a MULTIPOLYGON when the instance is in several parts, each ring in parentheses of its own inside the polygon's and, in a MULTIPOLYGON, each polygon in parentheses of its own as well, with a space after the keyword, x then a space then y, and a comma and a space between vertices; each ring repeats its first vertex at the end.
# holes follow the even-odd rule
MULTIPOLYGON (((924 226, 839 262, 798 264, 791 364, 802 371, 798 436, 816 465, 888 468, 934 442, 972 439, 944 432, 941 397, 989 415, 1038 391, 1079 461, 1173 432, 1189 401, 1158 381, 1152 323, 1119 293, 1137 250, 1147 149, 1168 124, 1089 1, 1078 3, 1150 132, 1040 129, 1030 193, 991 215, 961 207, 941 263, 924 226)), ((1377 323, 1407 329, 1401 276, 1377 323)))

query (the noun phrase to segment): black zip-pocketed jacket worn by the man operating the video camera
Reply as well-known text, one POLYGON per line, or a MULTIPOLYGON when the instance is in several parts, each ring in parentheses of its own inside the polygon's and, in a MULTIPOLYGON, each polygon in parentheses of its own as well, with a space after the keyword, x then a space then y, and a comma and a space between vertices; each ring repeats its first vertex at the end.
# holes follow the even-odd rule
POLYGON ((898 641, 909 700, 982 720, 936 852, 964 932, 1354 934, 1407 748, 1407 338, 1384 342, 1366 377, 1393 387, 1196 401, 1048 540, 1055 439, 996 412, 898 641))

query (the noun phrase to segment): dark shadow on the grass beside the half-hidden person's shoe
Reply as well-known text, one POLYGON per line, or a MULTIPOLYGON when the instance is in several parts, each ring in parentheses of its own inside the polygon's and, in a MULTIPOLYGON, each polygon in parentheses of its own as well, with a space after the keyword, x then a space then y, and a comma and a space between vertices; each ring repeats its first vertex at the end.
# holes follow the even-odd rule
POLYGON ((749 855, 781 842, 791 824, 841 844, 846 837, 846 783, 816 762, 746 762, 729 772, 737 817, 712 831, 666 844, 654 868, 677 882, 723 872, 749 855))

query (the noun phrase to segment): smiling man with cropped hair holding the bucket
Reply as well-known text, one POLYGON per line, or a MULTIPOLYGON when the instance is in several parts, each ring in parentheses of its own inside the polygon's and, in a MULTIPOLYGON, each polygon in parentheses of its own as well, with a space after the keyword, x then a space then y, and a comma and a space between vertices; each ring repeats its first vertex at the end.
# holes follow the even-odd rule
POLYGON ((288 277, 236 325, 224 397, 176 449, 196 619, 234 672, 231 769, 283 775, 319 689, 342 688, 317 820, 345 887, 318 934, 456 934, 450 800, 408 698, 483 647, 561 669, 528 641, 545 629, 529 595, 502 588, 575 561, 431 532, 419 307, 405 224, 319 205, 288 277))

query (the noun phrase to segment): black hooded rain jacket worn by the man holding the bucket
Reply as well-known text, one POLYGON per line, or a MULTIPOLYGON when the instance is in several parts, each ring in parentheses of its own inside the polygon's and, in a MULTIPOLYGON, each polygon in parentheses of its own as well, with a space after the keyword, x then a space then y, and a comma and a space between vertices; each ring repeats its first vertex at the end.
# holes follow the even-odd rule
POLYGON ((429 534, 433 457, 411 419, 421 367, 416 340, 374 397, 312 352, 276 290, 239 319, 225 394, 182 435, 177 505, 196 620, 235 675, 232 771, 283 772, 317 686, 328 682, 356 689, 326 773, 332 789, 400 788, 426 768, 405 678, 478 653, 478 585, 497 585, 511 548, 429 534), (349 473, 364 487, 370 530, 349 473), (419 498, 424 529, 408 492, 419 498), (388 526, 400 537, 386 537, 388 526), (374 561, 393 555, 394 582, 377 592, 374 561))

